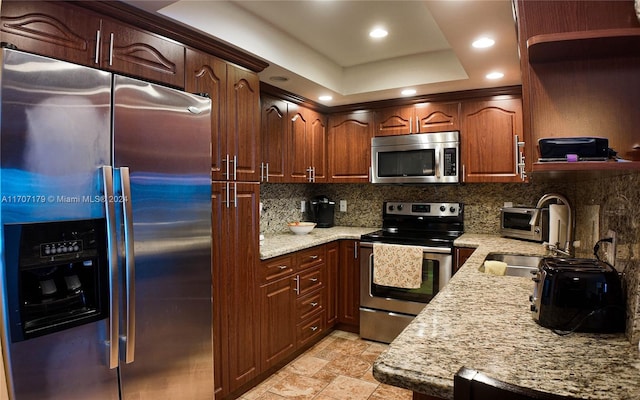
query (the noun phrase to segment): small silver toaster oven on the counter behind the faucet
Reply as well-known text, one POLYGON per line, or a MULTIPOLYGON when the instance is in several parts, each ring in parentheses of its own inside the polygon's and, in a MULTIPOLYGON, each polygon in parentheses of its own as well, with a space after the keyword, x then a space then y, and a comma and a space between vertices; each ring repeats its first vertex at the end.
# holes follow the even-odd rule
POLYGON ((546 242, 549 240, 549 209, 540 209, 540 218, 535 224, 531 219, 535 207, 503 207, 500 211, 500 234, 504 237, 546 242))

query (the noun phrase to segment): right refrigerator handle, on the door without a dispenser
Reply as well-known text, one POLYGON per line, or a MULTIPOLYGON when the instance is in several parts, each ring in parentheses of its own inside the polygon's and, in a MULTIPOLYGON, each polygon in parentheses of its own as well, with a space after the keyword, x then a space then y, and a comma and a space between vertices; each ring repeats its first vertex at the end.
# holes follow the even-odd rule
POLYGON ((129 167, 120 167, 120 189, 124 225, 124 278, 126 284, 125 363, 134 361, 136 348, 136 288, 135 255, 133 251, 133 211, 131 209, 131 180, 129 167))

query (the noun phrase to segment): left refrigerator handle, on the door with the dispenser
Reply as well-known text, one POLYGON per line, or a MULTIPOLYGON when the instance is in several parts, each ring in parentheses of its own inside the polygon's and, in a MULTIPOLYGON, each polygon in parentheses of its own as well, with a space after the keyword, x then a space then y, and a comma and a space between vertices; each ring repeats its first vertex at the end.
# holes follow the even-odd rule
POLYGON ((104 190, 104 205, 107 223, 107 248, 109 251, 109 368, 118 367, 119 353, 119 315, 118 315, 118 250, 116 238, 116 210, 113 201, 113 168, 108 165, 102 167, 102 183, 104 190))

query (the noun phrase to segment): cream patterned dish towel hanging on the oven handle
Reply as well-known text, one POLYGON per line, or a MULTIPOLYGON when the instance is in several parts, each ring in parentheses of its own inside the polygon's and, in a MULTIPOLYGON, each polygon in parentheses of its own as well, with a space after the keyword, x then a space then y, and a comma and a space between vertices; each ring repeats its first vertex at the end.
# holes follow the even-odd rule
POLYGON ((422 285, 423 249, 397 244, 373 244, 373 283, 403 289, 422 285))

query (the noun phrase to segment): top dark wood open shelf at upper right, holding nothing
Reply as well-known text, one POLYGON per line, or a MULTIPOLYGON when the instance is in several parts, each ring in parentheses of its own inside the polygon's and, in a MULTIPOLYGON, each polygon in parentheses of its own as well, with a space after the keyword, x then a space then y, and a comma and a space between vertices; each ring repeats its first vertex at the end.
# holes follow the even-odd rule
POLYGON ((640 28, 548 33, 527 40, 529 62, 640 56, 640 28))

